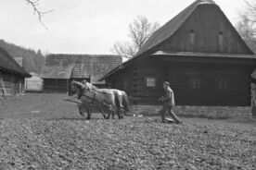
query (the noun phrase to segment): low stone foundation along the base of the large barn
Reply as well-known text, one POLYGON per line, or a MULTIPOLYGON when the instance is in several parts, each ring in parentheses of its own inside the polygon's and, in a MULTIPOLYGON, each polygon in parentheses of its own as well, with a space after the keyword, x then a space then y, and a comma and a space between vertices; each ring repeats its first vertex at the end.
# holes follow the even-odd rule
MULTIPOLYGON (((133 112, 142 115, 159 115, 160 105, 134 105, 133 112)), ((251 117, 251 107, 234 106, 174 106, 178 116, 205 118, 251 117)))

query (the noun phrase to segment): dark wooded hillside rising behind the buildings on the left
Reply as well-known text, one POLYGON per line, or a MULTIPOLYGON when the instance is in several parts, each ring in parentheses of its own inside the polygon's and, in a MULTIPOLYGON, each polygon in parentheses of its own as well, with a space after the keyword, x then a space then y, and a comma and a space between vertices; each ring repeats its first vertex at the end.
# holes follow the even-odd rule
POLYGON ((13 57, 23 58, 23 67, 28 72, 41 73, 41 70, 45 63, 45 56, 40 50, 35 52, 32 49, 26 49, 13 43, 0 40, 0 47, 6 49, 6 51, 13 57))

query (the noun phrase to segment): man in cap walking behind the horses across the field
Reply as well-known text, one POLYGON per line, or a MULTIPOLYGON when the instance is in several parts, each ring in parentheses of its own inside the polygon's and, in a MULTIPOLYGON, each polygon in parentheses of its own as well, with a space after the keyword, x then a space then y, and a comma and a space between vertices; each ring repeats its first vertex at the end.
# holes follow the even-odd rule
POLYGON ((170 83, 168 81, 163 82, 163 90, 164 90, 164 96, 160 97, 159 101, 162 102, 162 109, 160 110, 161 115, 161 122, 165 123, 165 113, 168 111, 169 115, 173 118, 176 124, 182 123, 181 120, 173 113, 173 106, 175 105, 174 102, 174 94, 173 90, 170 88, 170 83))

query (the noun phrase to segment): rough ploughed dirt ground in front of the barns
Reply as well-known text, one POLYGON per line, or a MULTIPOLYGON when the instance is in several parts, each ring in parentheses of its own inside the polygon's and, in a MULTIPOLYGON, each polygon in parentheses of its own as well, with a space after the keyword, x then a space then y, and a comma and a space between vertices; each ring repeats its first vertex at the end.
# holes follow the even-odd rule
MULTIPOLYGON (((64 94, 0 101, 0 169, 256 169, 256 121, 85 120, 64 94)), ((153 115, 154 113, 152 113, 153 115)), ((150 114, 147 114, 150 115, 150 114)))

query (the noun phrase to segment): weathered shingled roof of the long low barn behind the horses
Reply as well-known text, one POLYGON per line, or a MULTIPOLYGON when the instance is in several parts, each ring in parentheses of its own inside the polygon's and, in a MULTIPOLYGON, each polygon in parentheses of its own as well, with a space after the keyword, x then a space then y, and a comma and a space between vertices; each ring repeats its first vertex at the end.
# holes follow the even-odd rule
POLYGON ((119 55, 48 55, 41 77, 43 79, 97 79, 122 64, 119 55))

